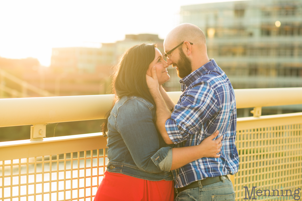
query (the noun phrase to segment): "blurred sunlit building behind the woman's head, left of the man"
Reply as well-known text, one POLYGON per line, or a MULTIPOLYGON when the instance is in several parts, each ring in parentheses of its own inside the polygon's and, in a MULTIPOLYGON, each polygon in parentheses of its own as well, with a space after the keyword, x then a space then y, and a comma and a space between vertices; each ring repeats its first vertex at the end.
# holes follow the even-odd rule
POLYGON ((126 35, 123 41, 103 43, 101 48, 53 48, 50 67, 57 73, 102 73, 109 77, 113 73, 111 67, 127 49, 151 42, 163 52, 163 39, 153 34, 126 35))

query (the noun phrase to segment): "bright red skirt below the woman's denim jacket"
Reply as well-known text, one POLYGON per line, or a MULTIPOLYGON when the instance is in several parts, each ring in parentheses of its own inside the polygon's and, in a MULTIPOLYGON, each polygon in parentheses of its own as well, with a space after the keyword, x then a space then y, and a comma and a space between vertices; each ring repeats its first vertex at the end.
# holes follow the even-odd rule
POLYGON ((105 171, 95 201, 173 201, 173 181, 148 181, 105 171))

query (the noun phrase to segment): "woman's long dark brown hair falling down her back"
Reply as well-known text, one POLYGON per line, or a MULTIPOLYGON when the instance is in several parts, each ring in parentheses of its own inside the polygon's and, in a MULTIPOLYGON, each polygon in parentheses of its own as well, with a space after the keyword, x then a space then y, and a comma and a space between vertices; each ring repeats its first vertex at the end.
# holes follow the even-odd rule
POLYGON ((114 102, 102 125, 104 137, 107 137, 107 124, 111 110, 117 100, 123 96, 142 97, 151 102, 154 105, 154 109, 156 109, 154 99, 146 82, 146 72, 149 64, 155 58, 155 47, 156 45, 154 44, 146 43, 136 45, 128 49, 120 58, 119 64, 114 69, 112 80, 112 91, 115 94, 114 102))

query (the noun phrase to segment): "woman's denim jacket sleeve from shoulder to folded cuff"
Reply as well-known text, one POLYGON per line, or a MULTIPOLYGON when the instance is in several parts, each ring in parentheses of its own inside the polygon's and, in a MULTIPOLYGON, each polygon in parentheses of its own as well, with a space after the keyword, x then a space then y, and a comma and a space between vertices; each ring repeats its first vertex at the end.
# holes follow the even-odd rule
POLYGON ((153 160, 160 163, 172 148, 160 148, 150 106, 140 98, 127 100, 118 109, 115 127, 137 167, 146 172, 158 173, 162 169, 153 160))

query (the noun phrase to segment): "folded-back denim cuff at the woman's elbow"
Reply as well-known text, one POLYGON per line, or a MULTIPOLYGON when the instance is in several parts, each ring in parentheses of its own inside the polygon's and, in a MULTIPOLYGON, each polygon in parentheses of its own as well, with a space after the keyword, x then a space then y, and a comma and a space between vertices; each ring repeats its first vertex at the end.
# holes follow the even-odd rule
POLYGON ((172 148, 162 147, 151 159, 160 171, 169 172, 172 166, 172 148))

